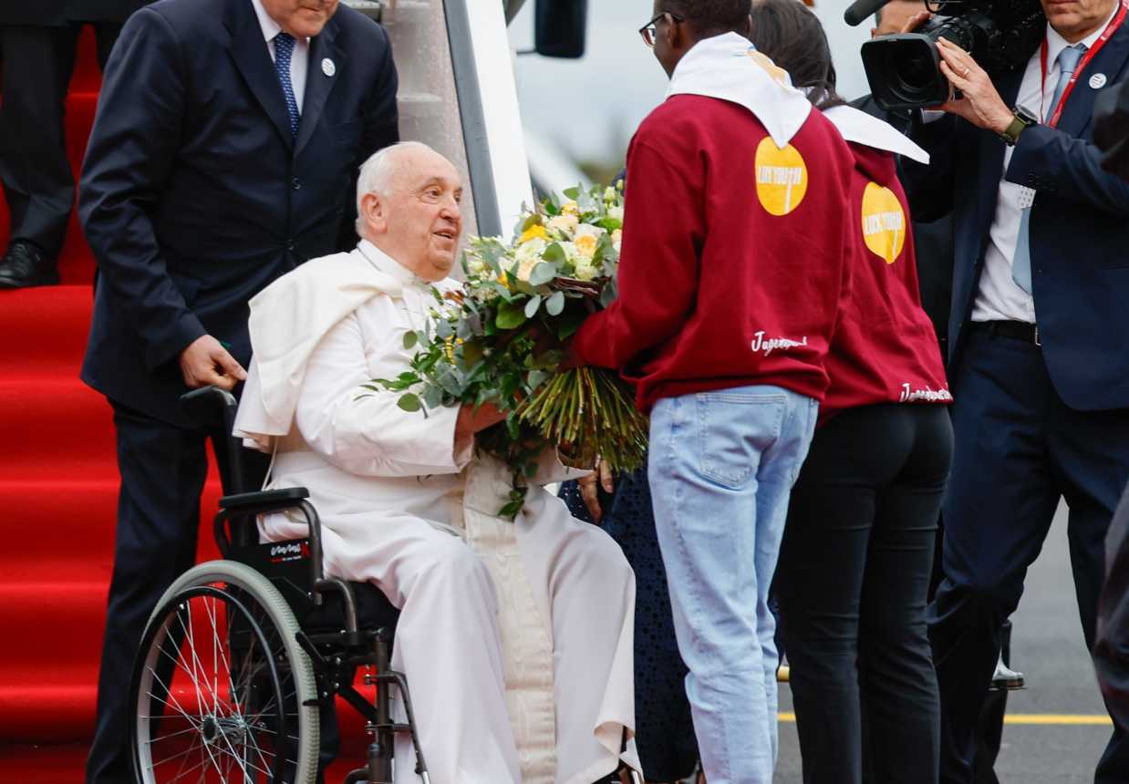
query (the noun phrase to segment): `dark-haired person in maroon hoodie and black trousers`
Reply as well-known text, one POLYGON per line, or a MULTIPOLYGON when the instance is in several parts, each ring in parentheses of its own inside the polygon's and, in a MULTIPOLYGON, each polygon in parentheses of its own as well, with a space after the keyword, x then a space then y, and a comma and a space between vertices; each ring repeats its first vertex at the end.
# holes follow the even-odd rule
POLYGON ((925 609, 953 398, 894 157, 928 155, 835 95, 823 28, 795 0, 755 0, 751 38, 824 109, 856 161, 851 298, 774 583, 804 782, 930 784, 940 708, 925 609))

